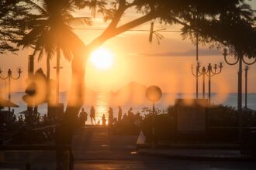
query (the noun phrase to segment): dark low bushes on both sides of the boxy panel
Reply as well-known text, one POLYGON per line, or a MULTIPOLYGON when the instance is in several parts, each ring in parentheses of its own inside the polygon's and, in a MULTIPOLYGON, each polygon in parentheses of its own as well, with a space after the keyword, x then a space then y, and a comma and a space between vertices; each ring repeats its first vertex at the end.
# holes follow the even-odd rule
MULTIPOLYGON (((206 141, 209 142, 236 142, 238 141, 238 113, 234 107, 216 105, 206 109, 207 114, 207 135, 206 136, 186 136, 179 140, 188 142, 206 141)), ((243 110, 242 120, 244 133, 249 127, 256 127, 256 113, 254 110, 243 110)), ((147 142, 152 139, 152 114, 147 114, 141 122, 140 128, 147 137, 147 142)), ((155 132, 158 141, 175 140, 175 109, 168 107, 167 114, 157 114, 155 116, 155 132)))

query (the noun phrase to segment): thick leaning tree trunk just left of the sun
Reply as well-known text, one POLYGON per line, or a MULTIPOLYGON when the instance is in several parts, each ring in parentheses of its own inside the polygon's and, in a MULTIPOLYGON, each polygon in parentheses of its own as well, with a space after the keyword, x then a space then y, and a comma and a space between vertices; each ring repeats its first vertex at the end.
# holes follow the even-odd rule
MULTIPOLYGON (((71 89, 67 108, 64 112, 64 119, 56 131, 56 145, 72 145, 74 131, 78 127, 78 113, 84 103, 85 62, 87 57, 83 53, 76 54, 72 61, 71 89)), ((69 158, 67 158, 67 151, 57 150, 57 169, 73 169, 74 162, 71 150, 69 153, 69 158), (65 163, 68 162, 68 159, 70 159, 70 164, 65 163)))

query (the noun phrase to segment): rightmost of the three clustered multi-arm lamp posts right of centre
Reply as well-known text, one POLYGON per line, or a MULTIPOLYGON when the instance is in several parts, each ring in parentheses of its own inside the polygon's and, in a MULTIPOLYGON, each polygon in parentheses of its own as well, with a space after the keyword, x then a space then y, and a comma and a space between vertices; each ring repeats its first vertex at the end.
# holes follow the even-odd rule
POLYGON ((217 74, 220 74, 223 68, 223 63, 220 63, 218 66, 217 64, 214 64, 214 66, 211 65, 211 63, 209 63, 209 65, 207 66, 207 72, 208 74, 206 74, 208 76, 208 102, 209 104, 211 104, 211 77, 215 76, 217 74), (218 68, 220 68, 220 70, 217 70, 218 68))

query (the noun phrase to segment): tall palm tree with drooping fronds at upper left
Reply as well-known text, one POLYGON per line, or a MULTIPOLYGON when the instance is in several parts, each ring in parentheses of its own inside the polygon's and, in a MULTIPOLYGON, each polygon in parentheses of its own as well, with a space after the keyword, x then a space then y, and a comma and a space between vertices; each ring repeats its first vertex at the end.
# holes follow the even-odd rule
MULTIPOLYGON (((36 12, 26 22, 29 32, 19 42, 19 46, 33 47, 33 56, 38 54, 38 60, 47 54, 47 80, 50 80, 50 59, 57 54, 57 76, 59 75, 59 61, 61 53, 71 60, 77 46, 83 42, 76 36, 71 28, 72 24, 91 24, 88 17, 74 17, 75 7, 70 0, 27 0, 36 12)), ((58 80, 57 80, 58 93, 58 80)), ((57 95, 58 101, 58 95, 57 95)))

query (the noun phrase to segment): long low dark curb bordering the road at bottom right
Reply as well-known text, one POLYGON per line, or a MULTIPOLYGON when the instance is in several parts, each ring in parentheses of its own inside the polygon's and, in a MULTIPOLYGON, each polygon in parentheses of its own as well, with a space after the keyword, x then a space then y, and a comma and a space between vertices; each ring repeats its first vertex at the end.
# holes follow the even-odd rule
POLYGON ((178 155, 178 154, 164 154, 154 151, 138 151, 140 155, 148 155, 161 158, 171 158, 178 160, 191 161, 229 161, 229 162, 254 162, 256 157, 251 155, 237 155, 237 156, 220 156, 220 155, 178 155))

